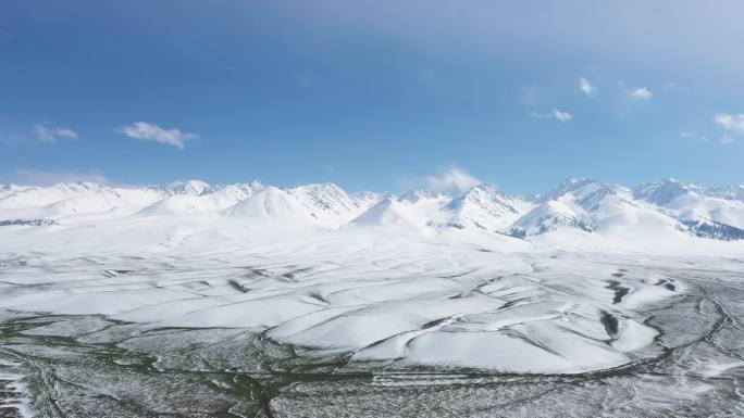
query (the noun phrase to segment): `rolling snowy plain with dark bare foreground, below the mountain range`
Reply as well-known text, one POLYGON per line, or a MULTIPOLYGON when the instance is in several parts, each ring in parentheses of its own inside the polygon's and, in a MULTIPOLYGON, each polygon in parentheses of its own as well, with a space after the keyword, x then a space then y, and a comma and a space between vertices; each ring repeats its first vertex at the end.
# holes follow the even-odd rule
POLYGON ((0 230, 0 416, 744 415, 741 241, 60 219, 0 230))

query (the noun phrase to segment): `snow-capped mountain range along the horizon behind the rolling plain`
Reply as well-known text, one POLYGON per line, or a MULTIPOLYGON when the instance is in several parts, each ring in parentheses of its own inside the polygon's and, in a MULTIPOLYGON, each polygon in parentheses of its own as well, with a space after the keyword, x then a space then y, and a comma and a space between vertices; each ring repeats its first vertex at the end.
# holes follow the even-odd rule
POLYGON ((94 182, 0 186, 0 225, 64 226, 102 219, 219 216, 256 225, 388 228, 436 236, 459 230, 520 239, 558 230, 744 239, 744 186, 661 179, 634 189, 572 178, 529 198, 482 183, 460 193, 349 193, 333 183, 276 188, 259 181, 114 187, 94 182))

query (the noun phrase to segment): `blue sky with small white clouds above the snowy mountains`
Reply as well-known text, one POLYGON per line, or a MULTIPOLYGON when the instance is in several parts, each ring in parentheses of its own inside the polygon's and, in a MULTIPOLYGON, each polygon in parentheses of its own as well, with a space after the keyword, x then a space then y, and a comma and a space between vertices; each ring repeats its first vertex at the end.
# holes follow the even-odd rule
POLYGON ((0 4, 0 182, 744 182, 741 1, 0 4))

